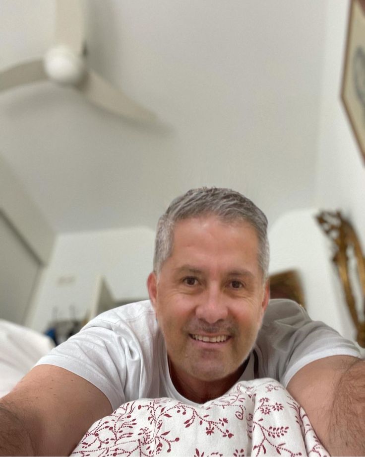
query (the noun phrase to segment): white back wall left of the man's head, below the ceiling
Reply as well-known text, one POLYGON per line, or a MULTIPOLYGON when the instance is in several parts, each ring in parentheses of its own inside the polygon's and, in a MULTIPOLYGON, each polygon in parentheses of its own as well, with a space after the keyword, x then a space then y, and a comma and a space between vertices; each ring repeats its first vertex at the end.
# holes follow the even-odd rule
POLYGON ((134 228, 60 235, 27 324, 44 331, 50 320, 69 318, 70 305, 82 319, 93 300, 95 281, 106 277, 117 301, 147 298, 155 233, 134 228))

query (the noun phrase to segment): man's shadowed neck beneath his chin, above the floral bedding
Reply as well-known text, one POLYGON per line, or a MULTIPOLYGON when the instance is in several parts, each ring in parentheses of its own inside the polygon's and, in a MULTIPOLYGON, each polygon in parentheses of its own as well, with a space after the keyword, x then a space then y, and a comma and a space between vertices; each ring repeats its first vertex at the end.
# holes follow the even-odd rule
POLYGON ((247 366, 248 359, 236 372, 226 378, 214 381, 202 381, 192 378, 175 367, 170 358, 168 358, 168 362, 171 380, 176 390, 194 403, 205 403, 225 394, 240 379, 247 366))

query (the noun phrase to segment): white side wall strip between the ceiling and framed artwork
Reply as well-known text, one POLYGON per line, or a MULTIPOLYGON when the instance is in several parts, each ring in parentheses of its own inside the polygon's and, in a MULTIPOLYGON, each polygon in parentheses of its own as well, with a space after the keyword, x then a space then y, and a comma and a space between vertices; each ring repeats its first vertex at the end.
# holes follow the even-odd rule
POLYGON ((340 100, 349 2, 327 0, 315 206, 340 209, 365 250, 365 160, 340 100))

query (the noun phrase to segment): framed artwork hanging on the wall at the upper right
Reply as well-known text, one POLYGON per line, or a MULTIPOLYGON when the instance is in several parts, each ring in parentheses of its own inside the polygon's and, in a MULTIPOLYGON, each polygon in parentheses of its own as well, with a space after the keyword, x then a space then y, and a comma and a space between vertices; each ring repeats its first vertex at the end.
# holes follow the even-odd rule
POLYGON ((352 0, 341 98, 365 159, 365 0, 352 0))

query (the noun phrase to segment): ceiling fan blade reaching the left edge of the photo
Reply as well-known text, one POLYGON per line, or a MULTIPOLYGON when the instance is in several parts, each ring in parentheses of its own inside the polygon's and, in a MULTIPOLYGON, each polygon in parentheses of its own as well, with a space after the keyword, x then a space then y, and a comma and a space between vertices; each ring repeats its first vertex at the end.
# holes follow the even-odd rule
POLYGON ((11 89, 22 84, 47 79, 43 60, 14 65, 0 73, 0 90, 11 89))

